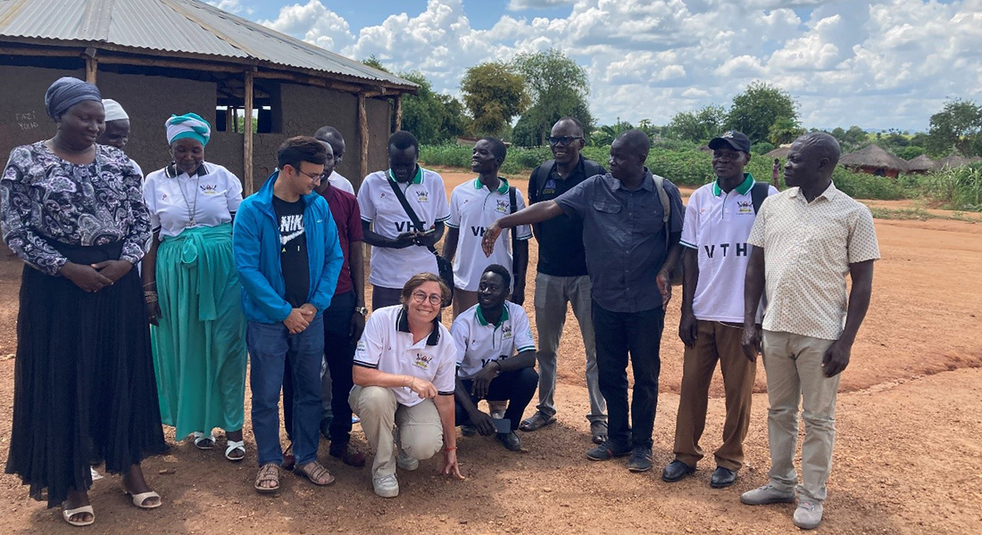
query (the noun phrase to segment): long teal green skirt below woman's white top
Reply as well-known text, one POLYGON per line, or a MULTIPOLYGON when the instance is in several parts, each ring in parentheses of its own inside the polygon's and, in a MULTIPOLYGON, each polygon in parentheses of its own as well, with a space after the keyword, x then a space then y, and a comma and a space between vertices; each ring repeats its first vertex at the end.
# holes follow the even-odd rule
POLYGON ((178 440, 243 428, 246 317, 232 225, 186 229, 157 249, 160 325, 151 328, 161 421, 178 440))

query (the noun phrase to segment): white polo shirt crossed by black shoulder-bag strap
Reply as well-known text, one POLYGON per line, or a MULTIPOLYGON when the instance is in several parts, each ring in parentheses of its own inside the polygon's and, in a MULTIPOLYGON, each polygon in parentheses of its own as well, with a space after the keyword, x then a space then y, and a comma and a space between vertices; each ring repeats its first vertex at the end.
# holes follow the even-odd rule
MULTIPOLYGON (((358 208, 362 221, 372 224, 375 234, 394 239, 413 230, 412 220, 403 209, 389 182, 395 183, 389 171, 378 171, 365 177, 358 188, 358 208)), ((425 229, 433 228, 438 221, 450 218, 447 191, 443 178, 428 169, 418 168, 409 185, 396 184, 406 193, 409 206, 416 213, 425 229)), ((387 247, 371 248, 371 273, 368 282, 382 288, 402 289, 416 273, 439 274, 436 257, 428 248, 409 245, 403 249, 387 247)))

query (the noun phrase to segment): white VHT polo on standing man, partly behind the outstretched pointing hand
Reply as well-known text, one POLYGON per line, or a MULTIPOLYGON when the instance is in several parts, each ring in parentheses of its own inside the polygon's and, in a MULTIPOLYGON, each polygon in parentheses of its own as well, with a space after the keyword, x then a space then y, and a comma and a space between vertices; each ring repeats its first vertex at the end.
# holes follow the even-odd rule
MULTIPOLYGON (((454 256, 454 286, 467 292, 477 292, 481 275, 491 264, 501 264, 512 271, 512 232, 518 240, 528 240, 532 237, 532 229, 521 225, 514 229, 505 229, 495 244, 491 256, 485 256, 481 249, 481 239, 484 231, 492 223, 512 213, 511 196, 508 193, 508 181, 500 179, 501 185, 493 191, 489 190, 480 179, 465 182, 455 187, 450 194, 450 220, 447 226, 458 229, 457 254, 454 256)), ((515 190, 517 210, 525 207, 525 199, 521 190, 515 190)))

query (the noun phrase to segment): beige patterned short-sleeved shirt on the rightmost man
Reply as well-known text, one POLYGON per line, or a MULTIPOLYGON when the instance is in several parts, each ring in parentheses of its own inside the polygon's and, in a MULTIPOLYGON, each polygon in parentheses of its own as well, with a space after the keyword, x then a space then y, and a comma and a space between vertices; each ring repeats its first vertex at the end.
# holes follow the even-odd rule
POLYGON ((880 257, 869 209, 834 184, 767 197, 747 242, 764 249, 764 329, 825 340, 843 333, 849 264, 880 257))

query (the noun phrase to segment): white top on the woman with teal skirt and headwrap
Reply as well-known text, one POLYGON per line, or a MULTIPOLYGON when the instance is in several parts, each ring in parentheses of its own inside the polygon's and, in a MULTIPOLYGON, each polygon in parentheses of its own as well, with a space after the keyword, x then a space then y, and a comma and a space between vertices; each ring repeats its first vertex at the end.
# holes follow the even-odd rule
POLYGON ((194 226, 231 223, 243 201, 243 185, 228 169, 213 163, 202 163, 193 177, 178 175, 168 166, 146 176, 143 200, 151 228, 159 227, 161 237, 174 237, 191 226, 191 210, 194 226))

